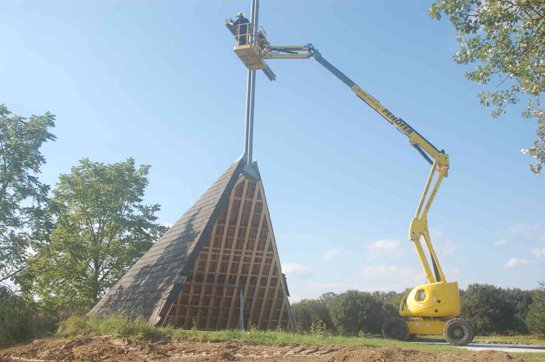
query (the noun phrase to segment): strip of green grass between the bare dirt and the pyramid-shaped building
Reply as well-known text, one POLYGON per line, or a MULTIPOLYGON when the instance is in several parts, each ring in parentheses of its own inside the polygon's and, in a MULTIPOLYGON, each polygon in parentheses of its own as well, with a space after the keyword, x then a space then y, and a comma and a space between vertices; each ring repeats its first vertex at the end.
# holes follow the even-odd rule
MULTIPOLYGON (((173 327, 153 328, 143 320, 131 320, 122 315, 108 317, 97 316, 72 316, 62 322, 57 335, 61 337, 74 337, 78 335, 119 335, 126 338, 147 341, 229 341, 238 340, 250 343, 264 343, 272 345, 344 345, 361 347, 399 347, 411 348, 419 351, 435 353, 468 354, 475 353, 467 349, 455 348, 445 345, 423 345, 413 344, 395 340, 385 340, 378 337, 364 336, 313 336, 308 334, 290 333, 281 330, 276 331, 241 331, 241 330, 218 330, 205 332, 200 330, 183 330, 173 327)), ((477 339, 490 339, 490 337, 477 337, 477 339)), ((520 341, 524 343, 545 344, 543 340, 534 340, 528 336, 494 337, 498 341, 520 341)), ((443 341, 440 338, 417 338, 416 341, 443 341)), ((524 360, 545 361, 545 353, 510 353, 524 360)))

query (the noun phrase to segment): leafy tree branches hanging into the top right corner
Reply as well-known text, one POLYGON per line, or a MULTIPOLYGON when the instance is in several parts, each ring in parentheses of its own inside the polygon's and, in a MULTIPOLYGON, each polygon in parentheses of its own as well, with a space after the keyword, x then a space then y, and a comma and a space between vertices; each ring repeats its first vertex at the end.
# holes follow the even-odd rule
POLYGON ((543 0, 440 0, 429 16, 450 16, 461 49, 458 64, 477 63, 465 72, 470 81, 492 82, 494 90, 479 93, 481 104, 494 106, 494 117, 507 105, 528 97, 523 118, 537 120, 537 140, 521 151, 535 163, 530 169, 540 174, 545 163, 545 112, 540 100, 545 91, 545 3, 543 0), (497 89, 497 90, 496 90, 497 89))

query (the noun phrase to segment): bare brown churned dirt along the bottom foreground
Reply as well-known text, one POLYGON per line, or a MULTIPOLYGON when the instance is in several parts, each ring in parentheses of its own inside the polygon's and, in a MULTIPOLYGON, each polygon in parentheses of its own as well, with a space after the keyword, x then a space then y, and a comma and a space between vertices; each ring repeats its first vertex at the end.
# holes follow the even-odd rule
POLYGON ((116 336, 35 340, 0 351, 4 361, 523 361, 505 352, 446 354, 401 348, 258 345, 243 341, 148 343, 116 336))

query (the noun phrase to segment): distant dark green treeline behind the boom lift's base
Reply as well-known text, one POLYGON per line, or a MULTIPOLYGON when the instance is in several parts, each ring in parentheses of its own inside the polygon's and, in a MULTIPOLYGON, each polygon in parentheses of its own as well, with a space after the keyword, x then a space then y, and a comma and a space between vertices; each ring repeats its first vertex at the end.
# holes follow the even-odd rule
MULTIPOLYGON (((502 289, 490 284, 471 284, 460 290, 461 318, 473 324, 480 335, 545 335, 545 283, 535 290, 502 289)), ((292 305, 301 331, 325 323, 342 334, 380 333, 381 323, 397 316, 404 293, 348 290, 302 299, 292 305)))

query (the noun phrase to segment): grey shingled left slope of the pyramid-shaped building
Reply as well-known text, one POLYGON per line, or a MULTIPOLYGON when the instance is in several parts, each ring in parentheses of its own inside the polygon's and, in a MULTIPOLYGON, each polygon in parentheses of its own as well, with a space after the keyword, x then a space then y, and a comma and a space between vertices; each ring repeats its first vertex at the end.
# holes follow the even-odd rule
POLYGON ((160 326, 243 172, 241 156, 144 254, 89 315, 135 312, 160 326))

